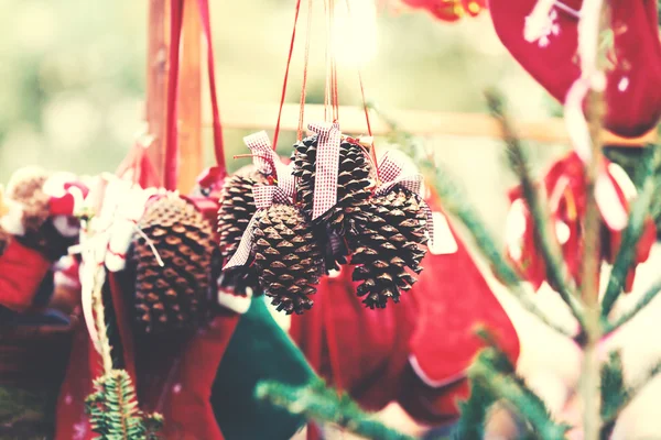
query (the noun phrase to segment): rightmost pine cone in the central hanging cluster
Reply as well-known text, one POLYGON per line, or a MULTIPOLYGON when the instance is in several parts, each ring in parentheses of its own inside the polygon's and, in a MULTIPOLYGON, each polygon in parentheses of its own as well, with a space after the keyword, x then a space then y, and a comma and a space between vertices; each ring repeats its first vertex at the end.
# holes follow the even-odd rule
POLYGON ((362 302, 373 309, 384 308, 388 298, 399 302, 401 292, 416 282, 407 268, 422 271, 427 237, 419 196, 395 188, 371 201, 368 222, 359 226, 351 264, 356 265, 354 280, 362 282, 358 296, 366 296, 362 302))

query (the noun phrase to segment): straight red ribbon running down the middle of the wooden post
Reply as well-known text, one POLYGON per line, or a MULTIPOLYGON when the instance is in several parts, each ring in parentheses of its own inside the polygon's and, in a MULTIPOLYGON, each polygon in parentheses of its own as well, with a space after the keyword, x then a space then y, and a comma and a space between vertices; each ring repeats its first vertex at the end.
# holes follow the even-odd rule
POLYGON ((178 89, 178 58, 180 42, 182 36, 182 24, 184 19, 184 0, 172 0, 170 2, 170 69, 167 78, 167 110, 165 127, 167 134, 165 139, 165 189, 176 189, 178 179, 178 144, 176 127, 176 97, 178 89))

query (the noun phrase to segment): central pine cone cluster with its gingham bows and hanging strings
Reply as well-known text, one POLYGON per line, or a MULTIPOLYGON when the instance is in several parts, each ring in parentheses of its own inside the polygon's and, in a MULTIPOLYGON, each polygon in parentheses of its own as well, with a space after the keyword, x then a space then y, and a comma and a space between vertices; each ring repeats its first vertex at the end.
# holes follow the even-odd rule
MULTIPOLYGON (((351 14, 347 1, 347 12, 351 14)), ((289 68, 295 41, 301 2, 296 4, 294 31, 286 64, 280 113, 275 124, 278 141, 280 120, 288 85, 289 68)), ((398 302, 401 293, 415 283, 422 271, 421 260, 431 238, 431 211, 421 198, 421 176, 404 172, 405 157, 384 155, 377 163, 369 112, 360 69, 358 79, 362 94, 368 136, 350 138, 339 129, 338 78, 334 44, 335 2, 325 2, 326 10, 326 91, 324 122, 307 125, 303 138, 305 91, 310 54, 312 1, 307 8, 304 74, 301 91, 297 142, 292 153, 292 166, 284 166, 273 153, 263 133, 246 139, 257 169, 269 176, 266 183, 252 186, 254 211, 247 221, 248 210, 239 208, 242 218, 230 213, 246 198, 229 199, 227 189, 220 208, 219 229, 225 240, 231 235, 236 252, 225 271, 243 274, 257 270, 261 288, 273 298, 273 305, 285 314, 302 314, 313 305, 319 277, 339 270, 340 264, 355 266, 354 279, 359 280, 357 294, 369 308, 384 308, 389 300, 398 302), (229 220, 225 222, 225 219, 229 220), (239 230, 242 237, 238 244, 239 230)), ((236 179, 238 183, 239 179, 236 179)), ((248 186, 242 187, 243 191, 248 186)), ((224 240, 221 238, 221 240, 224 240)), ((227 255, 229 256, 229 255, 227 255)))

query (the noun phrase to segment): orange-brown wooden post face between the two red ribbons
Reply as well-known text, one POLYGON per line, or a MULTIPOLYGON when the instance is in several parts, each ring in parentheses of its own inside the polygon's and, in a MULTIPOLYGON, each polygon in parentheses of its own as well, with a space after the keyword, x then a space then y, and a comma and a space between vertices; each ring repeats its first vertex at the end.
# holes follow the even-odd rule
POLYGON ((184 2, 178 87, 180 176, 177 189, 188 194, 203 167, 202 148, 202 22, 197 2, 184 2))

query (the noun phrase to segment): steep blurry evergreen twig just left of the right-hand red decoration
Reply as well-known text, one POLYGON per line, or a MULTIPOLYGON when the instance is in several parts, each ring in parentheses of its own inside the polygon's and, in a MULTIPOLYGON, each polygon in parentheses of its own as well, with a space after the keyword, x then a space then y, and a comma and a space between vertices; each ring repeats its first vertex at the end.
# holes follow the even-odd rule
POLYGON ((577 299, 572 275, 565 264, 560 244, 555 239, 554 229, 549 221, 551 216, 546 209, 546 204, 542 200, 542 197, 533 183, 528 157, 523 152, 521 141, 516 134, 507 111, 505 110, 503 99, 494 90, 487 91, 485 95, 491 116, 498 121, 502 130, 510 167, 521 182, 523 198, 532 213, 534 234, 537 243, 540 245, 542 257, 544 258, 549 280, 552 285, 557 287, 557 293, 561 298, 570 307, 570 310, 578 321, 581 329, 584 329, 585 318, 582 311, 583 307, 577 299))

